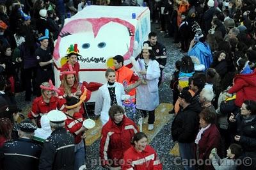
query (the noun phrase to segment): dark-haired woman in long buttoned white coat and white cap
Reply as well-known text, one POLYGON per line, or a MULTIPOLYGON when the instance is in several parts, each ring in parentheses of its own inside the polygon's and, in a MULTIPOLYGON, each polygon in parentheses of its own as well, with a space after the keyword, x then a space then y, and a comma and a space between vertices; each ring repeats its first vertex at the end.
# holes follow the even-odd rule
POLYGON ((147 116, 148 112, 148 130, 153 130, 155 109, 159 105, 157 83, 160 77, 160 68, 152 47, 145 45, 142 47, 141 58, 137 61, 141 68, 138 73, 143 76, 145 83, 136 89, 136 107, 140 109, 143 118, 147 116))

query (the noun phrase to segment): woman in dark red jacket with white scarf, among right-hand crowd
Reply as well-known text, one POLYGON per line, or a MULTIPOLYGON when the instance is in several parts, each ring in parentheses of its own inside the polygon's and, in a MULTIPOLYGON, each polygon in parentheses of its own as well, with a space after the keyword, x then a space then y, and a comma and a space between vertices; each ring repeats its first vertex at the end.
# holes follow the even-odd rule
MULTIPOLYGON (((199 114, 200 130, 196 135, 196 158, 206 160, 213 148, 220 148, 220 132, 216 125, 216 116, 209 109, 203 109, 199 114)), ((218 151, 218 150, 217 150, 218 151)), ((214 169, 212 166, 203 165, 200 169, 214 169)))

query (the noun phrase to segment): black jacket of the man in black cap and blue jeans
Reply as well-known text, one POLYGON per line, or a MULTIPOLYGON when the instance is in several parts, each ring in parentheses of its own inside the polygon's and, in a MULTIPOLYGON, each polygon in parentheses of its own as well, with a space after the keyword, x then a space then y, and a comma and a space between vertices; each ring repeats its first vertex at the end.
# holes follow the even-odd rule
POLYGON ((199 129, 201 107, 197 102, 189 104, 175 116, 172 122, 172 139, 179 143, 193 143, 199 129))

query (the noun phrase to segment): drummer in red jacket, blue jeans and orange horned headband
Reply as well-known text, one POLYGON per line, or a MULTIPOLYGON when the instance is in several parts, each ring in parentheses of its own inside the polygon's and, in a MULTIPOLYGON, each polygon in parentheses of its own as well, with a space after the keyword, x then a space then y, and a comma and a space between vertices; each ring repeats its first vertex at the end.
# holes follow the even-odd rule
MULTIPOLYGON (((83 95, 82 95, 83 96, 83 95)), ((81 97, 82 97, 81 96, 81 97)), ((65 105, 67 111, 67 120, 65 121, 66 129, 74 135, 75 138, 75 164, 74 169, 85 164, 85 150, 84 150, 84 138, 87 128, 83 127, 83 115, 79 112, 81 108, 81 102, 83 98, 79 100, 76 97, 66 97, 67 103, 65 105)))

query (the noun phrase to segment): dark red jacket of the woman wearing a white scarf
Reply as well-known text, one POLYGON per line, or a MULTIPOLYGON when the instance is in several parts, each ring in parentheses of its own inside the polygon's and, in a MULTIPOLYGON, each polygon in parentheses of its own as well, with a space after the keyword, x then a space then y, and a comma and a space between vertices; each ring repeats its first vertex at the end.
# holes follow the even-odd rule
MULTIPOLYGON (((220 132, 216 125, 212 124, 207 128, 201 136, 198 143, 199 146, 199 159, 209 159, 209 155, 213 148, 217 148, 220 151, 220 132)), ((212 166, 206 166, 204 169, 212 169, 212 166)), ((214 168, 213 168, 214 169, 214 168)))

